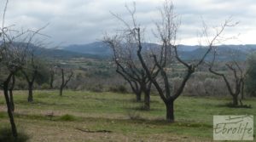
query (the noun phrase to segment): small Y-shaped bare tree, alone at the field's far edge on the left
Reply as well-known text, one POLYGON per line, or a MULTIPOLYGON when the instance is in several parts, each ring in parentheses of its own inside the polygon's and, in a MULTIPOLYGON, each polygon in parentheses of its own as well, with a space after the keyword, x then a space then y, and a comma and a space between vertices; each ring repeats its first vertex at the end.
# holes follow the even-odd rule
POLYGON ((60 66, 59 68, 61 70, 60 96, 62 96, 63 89, 67 87, 67 82, 69 82, 73 77, 73 71, 64 69, 63 67, 60 67, 60 66), (67 79, 65 79, 65 73, 67 74, 69 73, 69 75, 67 76, 67 79))

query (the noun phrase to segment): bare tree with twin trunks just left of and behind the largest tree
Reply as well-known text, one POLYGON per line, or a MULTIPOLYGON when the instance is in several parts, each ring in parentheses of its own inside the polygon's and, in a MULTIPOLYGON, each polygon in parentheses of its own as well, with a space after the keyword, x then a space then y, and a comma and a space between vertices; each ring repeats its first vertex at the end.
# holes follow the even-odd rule
MULTIPOLYGON (((137 95, 137 101, 141 100, 141 94, 144 94, 144 109, 150 109, 150 91, 152 82, 149 79, 147 72, 144 70, 139 58, 137 57, 137 21, 135 18, 136 14, 136 3, 133 3, 132 9, 127 5, 125 6, 129 14, 131 14, 132 25, 119 17, 118 14, 113 14, 115 18, 121 21, 125 25, 125 29, 118 30, 118 34, 113 37, 106 35, 104 42, 108 43, 108 46, 113 49, 113 61, 116 65, 116 71, 129 82, 131 89, 134 94, 137 95)), ((141 40, 141 39, 140 39, 141 40)), ((157 77, 160 72, 155 64, 152 64, 150 60, 150 51, 155 48, 150 44, 143 44, 146 50, 143 50, 141 55, 144 59, 147 59, 148 71, 151 77, 157 77)), ((159 53, 159 51, 155 51, 159 53)), ((167 58, 166 58, 167 59, 167 58)))

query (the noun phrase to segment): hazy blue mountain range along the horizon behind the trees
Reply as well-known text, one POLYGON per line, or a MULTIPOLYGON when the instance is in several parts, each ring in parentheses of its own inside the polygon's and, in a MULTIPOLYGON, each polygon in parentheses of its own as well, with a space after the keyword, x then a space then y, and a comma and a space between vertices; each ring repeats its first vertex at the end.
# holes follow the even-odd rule
MULTIPOLYGON (((1 41, 0 41, 1 43, 1 41)), ((158 48, 159 44, 143 43, 144 49, 158 48)), ((183 60, 200 59, 206 53, 207 48, 201 46, 178 45, 178 54, 183 60)), ((52 59, 68 60, 72 58, 89 58, 97 60, 110 59, 112 57, 112 49, 102 42, 69 45, 60 49, 56 48, 37 48, 36 54, 41 57, 52 59)), ((247 45, 220 45, 218 46, 217 60, 246 60, 247 54, 256 51, 256 44, 247 45)), ((136 53, 135 53, 136 54, 136 53)), ((212 54, 207 55, 207 59, 212 59, 212 54)))

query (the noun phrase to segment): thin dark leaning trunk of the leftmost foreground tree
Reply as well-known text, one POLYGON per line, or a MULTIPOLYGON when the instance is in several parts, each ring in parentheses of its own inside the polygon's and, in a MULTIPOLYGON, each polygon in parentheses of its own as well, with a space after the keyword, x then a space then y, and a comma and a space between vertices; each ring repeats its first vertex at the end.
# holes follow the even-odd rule
POLYGON ((8 111, 8 115, 9 115, 9 122, 10 122, 11 128, 12 128, 12 133, 13 133, 13 136, 15 137, 15 139, 16 139, 18 137, 18 133, 17 133, 16 125, 15 125, 15 119, 14 119, 14 116, 13 116, 13 111, 11 109, 11 105, 10 105, 10 101, 9 101, 8 84, 9 84, 9 82, 4 82, 4 84, 3 84, 3 94, 4 94, 6 105, 7 105, 7 111, 8 111))

